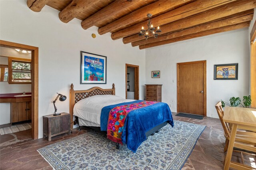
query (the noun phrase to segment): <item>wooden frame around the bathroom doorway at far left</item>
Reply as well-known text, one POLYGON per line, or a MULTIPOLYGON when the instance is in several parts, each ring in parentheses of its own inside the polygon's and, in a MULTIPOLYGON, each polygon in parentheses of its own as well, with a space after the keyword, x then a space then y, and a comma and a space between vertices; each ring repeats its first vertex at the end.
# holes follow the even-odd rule
POLYGON ((38 139, 38 47, 4 40, 0 40, 0 46, 31 51, 31 136, 38 139))

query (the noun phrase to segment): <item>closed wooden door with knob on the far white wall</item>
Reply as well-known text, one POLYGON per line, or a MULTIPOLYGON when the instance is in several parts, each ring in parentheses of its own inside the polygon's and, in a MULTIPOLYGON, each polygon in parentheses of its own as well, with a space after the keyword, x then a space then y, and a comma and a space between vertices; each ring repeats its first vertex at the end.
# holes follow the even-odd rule
POLYGON ((178 112, 206 116, 206 61, 177 64, 178 112))

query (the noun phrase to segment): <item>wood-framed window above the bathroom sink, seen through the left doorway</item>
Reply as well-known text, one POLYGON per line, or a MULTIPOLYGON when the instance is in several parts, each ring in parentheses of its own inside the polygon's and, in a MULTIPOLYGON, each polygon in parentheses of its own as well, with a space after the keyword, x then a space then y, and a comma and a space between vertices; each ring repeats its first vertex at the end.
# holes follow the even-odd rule
POLYGON ((8 57, 8 83, 31 83, 31 59, 8 57))

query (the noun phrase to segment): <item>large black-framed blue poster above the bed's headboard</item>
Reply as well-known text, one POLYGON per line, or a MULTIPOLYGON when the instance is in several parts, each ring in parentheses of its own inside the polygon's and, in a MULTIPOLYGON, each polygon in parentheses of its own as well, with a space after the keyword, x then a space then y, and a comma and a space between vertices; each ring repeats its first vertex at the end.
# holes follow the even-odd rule
POLYGON ((106 84, 106 65, 106 56, 81 51, 80 84, 106 84))

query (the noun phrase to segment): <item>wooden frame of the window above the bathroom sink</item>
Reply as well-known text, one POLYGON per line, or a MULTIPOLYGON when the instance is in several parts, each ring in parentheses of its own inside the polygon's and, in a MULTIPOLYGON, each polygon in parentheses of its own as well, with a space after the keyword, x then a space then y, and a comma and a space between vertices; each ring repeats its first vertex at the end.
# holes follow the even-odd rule
POLYGON ((30 70, 24 70, 24 71, 30 71, 30 75, 32 77, 32 63, 31 59, 26 58, 18 58, 18 57, 8 57, 8 83, 9 84, 31 84, 32 79, 18 79, 18 80, 30 80, 29 81, 12 81, 12 62, 19 62, 19 63, 30 63, 30 70))

